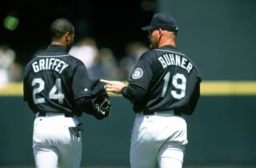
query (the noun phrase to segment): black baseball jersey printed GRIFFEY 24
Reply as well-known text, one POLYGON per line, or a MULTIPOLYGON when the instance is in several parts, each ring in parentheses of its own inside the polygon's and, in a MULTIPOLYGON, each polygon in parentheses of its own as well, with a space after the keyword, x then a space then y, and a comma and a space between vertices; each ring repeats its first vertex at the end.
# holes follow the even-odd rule
POLYGON ((81 115, 74 101, 91 96, 91 80, 82 61, 69 55, 65 47, 50 45, 26 65, 23 92, 34 113, 81 115))

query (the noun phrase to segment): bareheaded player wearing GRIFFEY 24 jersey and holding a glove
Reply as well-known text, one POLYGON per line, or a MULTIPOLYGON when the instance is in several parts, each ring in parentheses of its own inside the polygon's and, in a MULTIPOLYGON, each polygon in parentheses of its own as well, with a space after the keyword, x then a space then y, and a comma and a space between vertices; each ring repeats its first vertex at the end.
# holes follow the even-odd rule
POLYGON ((82 158, 82 128, 77 117, 82 112, 99 120, 109 115, 109 108, 94 103, 94 98, 106 92, 106 85, 89 79, 83 62, 68 54, 75 36, 73 24, 57 19, 50 33, 51 45, 27 64, 23 81, 23 98, 36 114, 35 164, 77 168, 82 158))

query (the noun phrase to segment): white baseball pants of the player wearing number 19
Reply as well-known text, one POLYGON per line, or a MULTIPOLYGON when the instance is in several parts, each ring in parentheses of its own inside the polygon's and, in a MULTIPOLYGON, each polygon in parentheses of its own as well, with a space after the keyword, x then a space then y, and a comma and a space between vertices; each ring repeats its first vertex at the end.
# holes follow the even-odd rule
POLYGON ((137 114, 133 123, 131 168, 181 168, 187 144, 187 123, 182 116, 137 114))

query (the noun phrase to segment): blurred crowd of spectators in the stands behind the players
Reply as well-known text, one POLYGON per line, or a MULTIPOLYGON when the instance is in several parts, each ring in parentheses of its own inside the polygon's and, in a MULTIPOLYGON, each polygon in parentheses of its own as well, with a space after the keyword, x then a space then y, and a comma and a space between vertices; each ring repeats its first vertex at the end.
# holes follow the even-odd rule
MULTIPOLYGON (((46 48, 38 48, 31 57, 46 48)), ((113 49, 99 48, 97 41, 86 37, 75 43, 69 51, 70 55, 81 60, 92 79, 125 81, 130 78, 135 63, 142 53, 149 48, 140 41, 130 41, 124 47, 125 55, 117 59, 113 49)), ((25 65, 16 61, 15 49, 6 44, 0 45, 0 89, 10 82, 21 82, 25 65)), ((120 56, 118 56, 120 57, 120 56)))

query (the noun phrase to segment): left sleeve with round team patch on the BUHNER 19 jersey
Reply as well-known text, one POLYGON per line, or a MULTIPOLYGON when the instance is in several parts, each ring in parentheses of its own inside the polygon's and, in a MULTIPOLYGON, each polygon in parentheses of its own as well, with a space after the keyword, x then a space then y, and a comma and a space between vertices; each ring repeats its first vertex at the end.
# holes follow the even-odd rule
POLYGON ((143 54, 133 69, 129 83, 131 86, 139 86, 145 90, 148 90, 152 78, 153 69, 150 61, 147 60, 147 55, 143 54))

